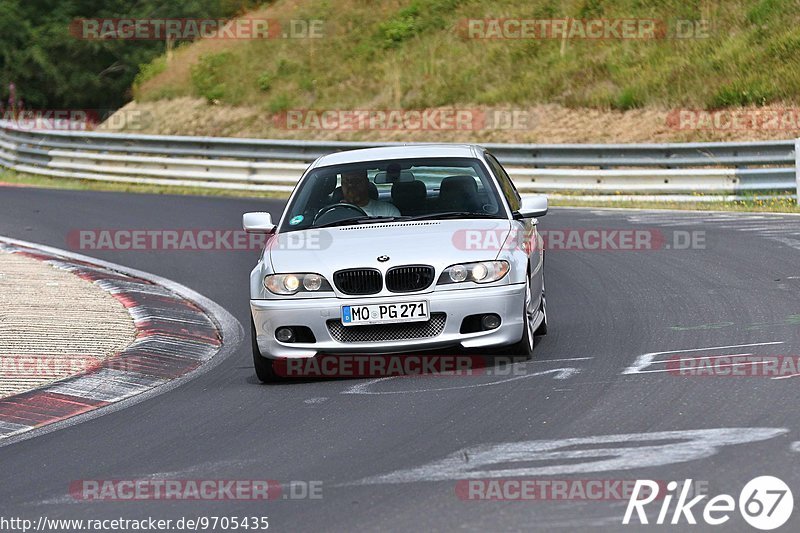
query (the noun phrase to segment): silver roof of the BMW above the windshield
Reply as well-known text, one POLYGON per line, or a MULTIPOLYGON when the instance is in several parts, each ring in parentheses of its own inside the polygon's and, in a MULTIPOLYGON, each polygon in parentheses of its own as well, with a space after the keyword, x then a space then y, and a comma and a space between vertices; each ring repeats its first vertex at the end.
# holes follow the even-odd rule
POLYGON ((474 144, 402 144, 346 150, 335 152, 318 158, 311 168, 328 167, 362 161, 380 161, 382 159, 412 159, 428 157, 478 157, 484 151, 474 144))

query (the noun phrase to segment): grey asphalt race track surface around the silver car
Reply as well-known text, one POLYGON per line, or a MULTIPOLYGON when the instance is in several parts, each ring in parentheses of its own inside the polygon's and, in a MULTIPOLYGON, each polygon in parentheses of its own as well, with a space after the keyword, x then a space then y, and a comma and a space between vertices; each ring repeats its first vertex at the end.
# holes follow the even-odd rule
MULTIPOLYGON (((245 211, 277 216, 281 207, 269 200, 6 188, 0 234, 67 248, 74 229, 236 229, 245 211)), ((550 334, 513 376, 265 386, 244 342, 174 390, 0 447, 0 515, 269 516, 278 531, 650 531, 659 528, 620 524, 623 500, 464 501, 456 483, 691 478, 712 494, 738 498, 750 479, 776 475, 800 496, 800 377, 687 377, 657 362, 636 365, 655 352, 800 353, 800 218, 553 209, 542 227, 653 230, 667 243, 676 231, 700 231, 705 245, 548 251, 550 334), (620 441, 614 444, 596 438, 620 434, 629 436, 610 439, 620 441), (703 444, 709 438, 727 441, 703 444), (321 481, 323 497, 84 502, 68 492, 76 480, 141 478, 321 481)), ((184 284, 248 324, 255 253, 80 252, 184 284)), ((655 519, 658 509, 648 511, 655 519)), ((793 516, 784 529, 797 530, 798 520, 793 516)), ((679 529, 687 528, 683 522, 679 529)), ((735 512, 725 530, 752 531, 735 512)))

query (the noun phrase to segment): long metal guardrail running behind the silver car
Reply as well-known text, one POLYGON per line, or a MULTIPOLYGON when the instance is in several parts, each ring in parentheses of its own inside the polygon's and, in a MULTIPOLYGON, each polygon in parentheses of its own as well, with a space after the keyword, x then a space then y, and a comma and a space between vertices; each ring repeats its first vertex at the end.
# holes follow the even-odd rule
MULTIPOLYGON (((0 121, 0 165, 19 172, 205 188, 288 192, 320 155, 401 144, 24 130, 0 121)), ((800 193, 800 140, 484 146, 521 192, 800 193)))

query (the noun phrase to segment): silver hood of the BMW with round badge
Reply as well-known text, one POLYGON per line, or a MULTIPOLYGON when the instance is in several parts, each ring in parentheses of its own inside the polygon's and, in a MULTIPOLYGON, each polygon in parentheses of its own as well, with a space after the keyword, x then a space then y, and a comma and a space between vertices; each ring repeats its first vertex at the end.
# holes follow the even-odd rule
POLYGON ((420 263, 441 271, 454 263, 494 259, 510 230, 506 219, 391 222, 281 233, 268 246, 276 273, 330 276, 344 268, 386 271, 420 263))

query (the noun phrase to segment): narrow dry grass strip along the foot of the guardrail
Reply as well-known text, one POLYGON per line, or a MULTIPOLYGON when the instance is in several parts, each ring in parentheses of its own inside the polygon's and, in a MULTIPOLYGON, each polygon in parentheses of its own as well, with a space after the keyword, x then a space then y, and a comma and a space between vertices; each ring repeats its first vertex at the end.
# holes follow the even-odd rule
MULTIPOLYGON (((48 178, 21 174, 9 170, 0 171, 0 184, 11 183, 25 187, 42 187, 48 189, 69 189, 81 191, 111 191, 138 194, 176 194, 193 196, 219 196, 233 198, 288 198, 288 194, 260 191, 232 191, 223 189, 208 189, 203 187, 168 187, 162 185, 139 185, 125 183, 109 183, 93 180, 78 180, 66 178, 48 178)), ((0 188, 2 186, 0 185, 0 188)), ((603 202, 585 202, 573 199, 551 200, 553 207, 617 207, 636 209, 681 209, 699 211, 738 211, 738 212, 772 212, 772 213, 800 213, 800 208, 794 199, 774 198, 768 200, 743 200, 735 202, 647 202, 647 201, 622 201, 613 200, 603 202)))

